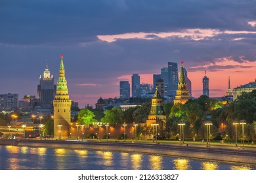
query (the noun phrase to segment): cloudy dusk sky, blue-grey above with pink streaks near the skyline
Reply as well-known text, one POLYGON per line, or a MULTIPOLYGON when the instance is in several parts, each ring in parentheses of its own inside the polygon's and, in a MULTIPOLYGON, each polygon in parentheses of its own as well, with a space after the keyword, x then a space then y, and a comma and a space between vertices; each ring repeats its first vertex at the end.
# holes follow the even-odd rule
POLYGON ((70 98, 83 108, 119 97, 119 81, 152 84, 167 62, 184 61, 192 95, 211 97, 256 78, 255 0, 1 0, 0 93, 36 95, 60 54, 70 98))

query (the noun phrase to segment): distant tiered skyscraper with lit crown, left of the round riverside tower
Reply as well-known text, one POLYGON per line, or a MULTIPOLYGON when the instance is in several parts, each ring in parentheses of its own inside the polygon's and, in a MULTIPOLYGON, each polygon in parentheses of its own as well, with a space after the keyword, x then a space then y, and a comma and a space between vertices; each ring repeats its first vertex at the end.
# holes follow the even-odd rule
POLYGON ((43 76, 40 75, 40 84, 37 85, 37 99, 39 100, 39 105, 43 108, 52 108, 55 93, 56 85, 54 85, 54 78, 46 64, 43 76))

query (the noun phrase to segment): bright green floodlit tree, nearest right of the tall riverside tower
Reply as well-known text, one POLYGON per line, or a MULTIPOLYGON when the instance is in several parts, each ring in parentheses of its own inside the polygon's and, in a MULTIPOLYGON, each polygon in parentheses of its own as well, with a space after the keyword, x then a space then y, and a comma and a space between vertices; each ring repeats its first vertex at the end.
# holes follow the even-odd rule
POLYGON ((77 113, 77 121, 79 124, 93 124, 96 122, 95 114, 88 108, 83 108, 77 113))

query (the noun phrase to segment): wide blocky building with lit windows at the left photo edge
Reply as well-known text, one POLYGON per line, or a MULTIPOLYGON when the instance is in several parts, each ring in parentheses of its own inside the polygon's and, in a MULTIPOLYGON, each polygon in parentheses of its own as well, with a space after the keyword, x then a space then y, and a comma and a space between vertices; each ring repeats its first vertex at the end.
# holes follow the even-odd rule
POLYGON ((0 94, 0 108, 9 109, 18 107, 18 94, 0 94))

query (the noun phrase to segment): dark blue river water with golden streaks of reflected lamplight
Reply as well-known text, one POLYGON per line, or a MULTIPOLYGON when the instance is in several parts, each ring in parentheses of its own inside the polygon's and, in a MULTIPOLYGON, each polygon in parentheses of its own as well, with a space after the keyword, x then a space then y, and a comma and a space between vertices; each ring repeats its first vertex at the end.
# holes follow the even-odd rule
POLYGON ((64 148, 0 146, 1 170, 244 170, 256 165, 64 148))

